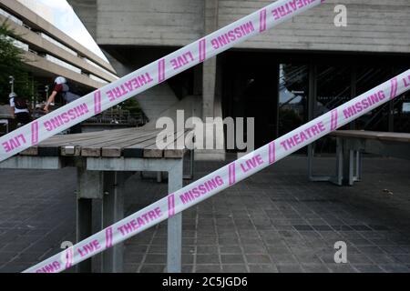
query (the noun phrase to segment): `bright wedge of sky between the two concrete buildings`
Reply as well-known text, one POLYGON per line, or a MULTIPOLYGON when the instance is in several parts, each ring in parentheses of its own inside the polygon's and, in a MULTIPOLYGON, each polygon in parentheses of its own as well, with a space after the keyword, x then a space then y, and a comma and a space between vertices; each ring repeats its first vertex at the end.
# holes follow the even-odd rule
MULTIPOLYGON (((46 17, 58 29, 76 39, 78 43, 86 46, 90 51, 107 60, 101 52, 93 37, 88 33, 87 28, 77 17, 73 8, 67 3, 67 0, 22 0, 26 3, 40 3, 46 5, 52 11, 52 17, 46 17)), ((31 7, 30 7, 31 8, 31 7)))

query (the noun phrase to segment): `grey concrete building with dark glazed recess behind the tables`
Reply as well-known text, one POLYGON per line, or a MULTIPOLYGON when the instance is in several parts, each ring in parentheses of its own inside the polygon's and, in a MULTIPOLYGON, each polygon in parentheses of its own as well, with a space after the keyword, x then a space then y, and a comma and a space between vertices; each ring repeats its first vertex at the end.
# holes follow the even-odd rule
MULTIPOLYGON (((271 3, 266 0, 68 0, 125 75, 271 3)), ((151 120, 189 98, 207 116, 256 118, 256 146, 410 65, 409 0, 328 0, 138 96, 151 120), (347 8, 337 26, 336 5, 347 8), (192 97, 196 96, 196 97, 192 97), (294 109, 292 109, 294 108, 294 109)), ((410 131, 405 95, 352 127, 410 131)), ((195 106, 190 106, 195 107, 195 106)), ((223 143, 223 134, 220 133, 223 143)), ((324 146, 325 148, 326 146, 324 146)), ((220 153, 223 155, 223 153, 220 153)))

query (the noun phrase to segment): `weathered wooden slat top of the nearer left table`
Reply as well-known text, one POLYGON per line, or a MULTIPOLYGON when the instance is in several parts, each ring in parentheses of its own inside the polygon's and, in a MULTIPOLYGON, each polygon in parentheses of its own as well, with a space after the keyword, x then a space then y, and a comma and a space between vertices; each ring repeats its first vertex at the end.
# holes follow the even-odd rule
POLYGON ((157 136, 162 130, 127 128, 77 135, 56 135, 21 156, 85 156, 181 158, 187 148, 172 146, 185 139, 190 131, 167 133, 168 144, 158 148, 157 136))

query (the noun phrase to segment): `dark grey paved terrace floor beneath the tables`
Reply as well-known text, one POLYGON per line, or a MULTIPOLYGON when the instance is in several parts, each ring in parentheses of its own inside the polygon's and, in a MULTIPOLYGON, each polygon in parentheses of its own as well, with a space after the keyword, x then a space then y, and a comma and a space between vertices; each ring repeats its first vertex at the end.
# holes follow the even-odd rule
MULTIPOLYGON (((196 178, 221 165, 197 163, 196 178)), ((324 172, 331 165, 316 163, 324 172)), ((409 173, 406 161, 367 157, 364 182, 338 187, 308 182, 306 159, 287 158, 185 212, 183 271, 409 272, 409 173), (336 265, 340 240, 349 263, 336 265)), ((138 175, 128 184, 128 214, 167 193, 138 175)), ((74 240, 74 169, 2 170, 0 185, 0 272, 22 271, 74 240)), ((126 271, 163 272, 165 243, 165 224, 128 240, 126 271)))

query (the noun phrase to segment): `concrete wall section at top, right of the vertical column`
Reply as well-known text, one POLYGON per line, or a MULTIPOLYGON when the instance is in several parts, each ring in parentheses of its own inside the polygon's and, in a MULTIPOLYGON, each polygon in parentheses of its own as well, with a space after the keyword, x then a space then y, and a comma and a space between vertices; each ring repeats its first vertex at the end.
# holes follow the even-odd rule
MULTIPOLYGON (((263 0, 219 0, 220 27, 268 5, 263 0)), ((239 47, 410 53, 409 0, 327 0, 239 47), (333 24, 335 5, 346 5, 348 25, 333 24)))

